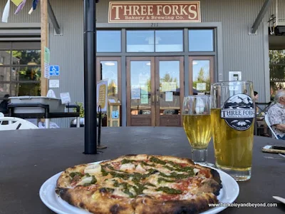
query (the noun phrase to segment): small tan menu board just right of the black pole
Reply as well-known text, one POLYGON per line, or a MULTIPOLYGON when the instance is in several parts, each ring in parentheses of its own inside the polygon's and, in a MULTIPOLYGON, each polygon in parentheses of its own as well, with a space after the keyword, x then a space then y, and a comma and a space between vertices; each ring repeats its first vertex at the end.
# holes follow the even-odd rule
POLYGON ((107 112, 108 108, 108 79, 103 79, 97 83, 97 111, 100 106, 102 112, 107 112))

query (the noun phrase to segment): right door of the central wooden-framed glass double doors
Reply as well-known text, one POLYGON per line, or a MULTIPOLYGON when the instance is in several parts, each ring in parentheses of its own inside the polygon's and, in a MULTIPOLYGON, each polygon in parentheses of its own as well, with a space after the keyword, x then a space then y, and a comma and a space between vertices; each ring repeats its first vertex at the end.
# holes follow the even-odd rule
POLYGON ((183 57, 155 58, 156 126, 181 126, 184 97, 183 57))

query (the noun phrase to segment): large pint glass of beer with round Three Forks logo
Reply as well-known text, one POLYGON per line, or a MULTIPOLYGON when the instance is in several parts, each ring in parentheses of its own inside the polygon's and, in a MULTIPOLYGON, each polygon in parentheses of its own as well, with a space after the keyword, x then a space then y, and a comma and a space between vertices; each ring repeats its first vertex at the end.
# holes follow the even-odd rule
POLYGON ((211 123, 217 168, 235 180, 249 180, 252 172, 255 104, 250 81, 211 86, 211 123))

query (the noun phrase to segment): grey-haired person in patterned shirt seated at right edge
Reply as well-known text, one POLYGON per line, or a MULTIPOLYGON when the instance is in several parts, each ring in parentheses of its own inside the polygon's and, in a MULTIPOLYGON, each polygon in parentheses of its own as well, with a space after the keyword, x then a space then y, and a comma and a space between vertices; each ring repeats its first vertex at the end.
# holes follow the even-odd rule
POLYGON ((285 140, 285 89, 276 92, 275 101, 268 110, 269 122, 276 136, 285 140))

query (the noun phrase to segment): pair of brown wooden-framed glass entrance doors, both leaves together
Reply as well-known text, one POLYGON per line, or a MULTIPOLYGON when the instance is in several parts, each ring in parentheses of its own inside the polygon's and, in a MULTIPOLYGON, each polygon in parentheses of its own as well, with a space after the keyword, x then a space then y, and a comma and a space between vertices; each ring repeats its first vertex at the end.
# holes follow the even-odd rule
POLYGON ((181 126, 183 57, 127 58, 127 125, 181 126))

